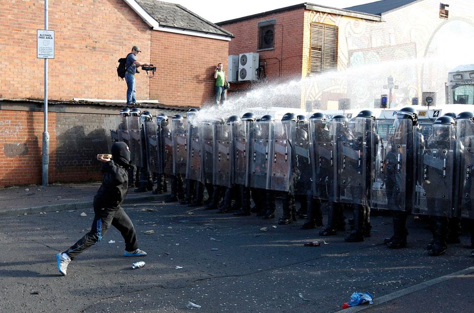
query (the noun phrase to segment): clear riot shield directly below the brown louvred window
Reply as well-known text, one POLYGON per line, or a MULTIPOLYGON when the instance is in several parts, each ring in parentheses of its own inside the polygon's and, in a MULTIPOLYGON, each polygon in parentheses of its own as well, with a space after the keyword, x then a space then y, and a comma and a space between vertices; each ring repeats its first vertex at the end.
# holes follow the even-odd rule
POLYGON ((335 125, 322 119, 309 120, 312 145, 311 161, 313 196, 322 200, 336 200, 336 142, 335 125))

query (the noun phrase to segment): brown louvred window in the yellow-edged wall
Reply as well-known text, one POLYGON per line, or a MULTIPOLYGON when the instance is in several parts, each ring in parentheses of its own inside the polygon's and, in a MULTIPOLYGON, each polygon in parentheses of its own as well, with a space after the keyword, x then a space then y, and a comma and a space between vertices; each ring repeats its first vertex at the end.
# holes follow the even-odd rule
POLYGON ((336 26, 311 23, 311 73, 337 69, 336 26))

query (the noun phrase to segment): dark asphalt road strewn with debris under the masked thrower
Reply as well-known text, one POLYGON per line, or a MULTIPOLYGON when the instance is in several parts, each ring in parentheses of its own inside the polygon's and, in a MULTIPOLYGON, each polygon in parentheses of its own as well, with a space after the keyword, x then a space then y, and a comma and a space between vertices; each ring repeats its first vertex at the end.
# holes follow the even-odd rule
POLYGON ((301 220, 279 226, 277 219, 161 202, 125 208, 148 256, 123 257, 123 239, 111 229, 70 264, 66 277, 57 272, 55 254, 87 232, 92 210, 84 211, 87 217, 74 211, 2 218, 0 311, 182 312, 191 301, 204 312, 333 312, 356 291, 375 296, 369 311, 471 311, 472 275, 377 305, 377 298, 471 267, 466 235, 446 255, 429 257, 431 234, 412 219, 408 248, 390 250, 382 243, 391 235, 389 216, 372 218, 371 238, 346 243, 342 234, 300 230, 301 220), (313 240, 323 243, 303 245, 313 240), (132 270, 139 260, 145 267, 132 270))

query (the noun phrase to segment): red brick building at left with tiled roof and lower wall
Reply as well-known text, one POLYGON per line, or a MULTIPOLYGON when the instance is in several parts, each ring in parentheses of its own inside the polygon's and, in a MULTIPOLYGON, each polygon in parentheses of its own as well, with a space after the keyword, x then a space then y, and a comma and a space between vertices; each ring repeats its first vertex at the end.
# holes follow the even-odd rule
MULTIPOLYGON (((230 32, 154 0, 48 3, 55 37, 55 58, 48 61, 50 182, 99 178, 95 154, 110 144, 121 109, 116 100, 126 102, 117 60, 133 45, 142 50, 138 61, 157 67, 155 77, 141 71, 136 80, 137 100, 148 102, 142 107, 153 115, 213 100, 214 69, 226 63, 230 32)), ((36 30, 44 29, 44 1, 1 7, 0 187, 40 183, 44 61, 36 58, 36 30)))

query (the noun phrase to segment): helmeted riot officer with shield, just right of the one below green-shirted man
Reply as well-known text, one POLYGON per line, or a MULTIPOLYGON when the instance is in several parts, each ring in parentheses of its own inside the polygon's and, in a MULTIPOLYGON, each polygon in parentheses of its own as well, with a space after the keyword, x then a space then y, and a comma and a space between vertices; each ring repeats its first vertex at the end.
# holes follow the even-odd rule
POLYGON ((245 113, 240 123, 231 122, 234 141, 234 177, 233 183, 240 189, 241 208, 235 212, 235 216, 249 216, 250 213, 250 159, 252 141, 252 124, 255 123, 253 113, 245 113))

